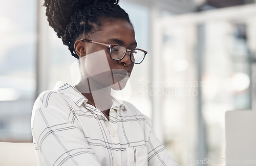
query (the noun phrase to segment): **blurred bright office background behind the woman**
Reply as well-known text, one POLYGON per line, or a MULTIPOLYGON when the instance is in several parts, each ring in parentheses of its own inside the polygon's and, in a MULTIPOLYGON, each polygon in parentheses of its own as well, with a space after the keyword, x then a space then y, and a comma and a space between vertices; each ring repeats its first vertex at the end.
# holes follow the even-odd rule
MULTIPOLYGON (((38 2, 0 7, 0 141, 32 141, 38 94, 57 81, 72 83, 75 58, 38 2)), ((120 6, 131 17, 138 48, 148 51, 134 67, 129 101, 152 118, 179 164, 225 158, 225 111, 252 107, 255 1, 121 0, 120 6)))

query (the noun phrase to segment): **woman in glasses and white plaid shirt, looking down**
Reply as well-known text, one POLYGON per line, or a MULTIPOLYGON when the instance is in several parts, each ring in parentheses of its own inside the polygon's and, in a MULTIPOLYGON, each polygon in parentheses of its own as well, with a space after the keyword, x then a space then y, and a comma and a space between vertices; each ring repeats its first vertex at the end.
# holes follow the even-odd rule
POLYGON ((49 25, 79 59, 80 79, 37 98, 32 134, 39 165, 177 165, 132 104, 111 96, 134 64, 134 29, 118 1, 46 0, 49 25))

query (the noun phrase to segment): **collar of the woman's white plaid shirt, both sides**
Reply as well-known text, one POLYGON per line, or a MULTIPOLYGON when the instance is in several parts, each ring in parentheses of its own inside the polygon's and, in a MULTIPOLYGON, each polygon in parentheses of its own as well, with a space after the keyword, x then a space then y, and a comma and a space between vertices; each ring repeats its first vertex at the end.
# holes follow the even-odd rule
MULTIPOLYGON (((65 94, 66 96, 68 96, 72 101, 74 101, 74 103, 77 104, 78 107, 80 107, 82 105, 82 103, 87 103, 88 100, 86 97, 84 97, 81 92, 79 92, 76 87, 71 86, 68 83, 65 82, 57 82, 54 90, 57 90, 63 94, 65 94)), ((111 99, 112 99, 112 108, 116 109, 116 110, 126 110, 125 108, 125 104, 123 101, 115 98, 112 94, 111 94, 111 99)))

